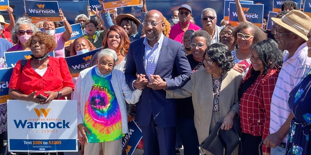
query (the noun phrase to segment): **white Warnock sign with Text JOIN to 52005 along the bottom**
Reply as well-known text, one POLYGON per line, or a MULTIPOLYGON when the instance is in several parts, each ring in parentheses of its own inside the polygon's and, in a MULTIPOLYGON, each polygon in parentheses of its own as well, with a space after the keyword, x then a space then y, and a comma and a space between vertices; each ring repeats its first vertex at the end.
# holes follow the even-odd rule
POLYGON ((8 100, 10 152, 77 152, 77 100, 8 100))

